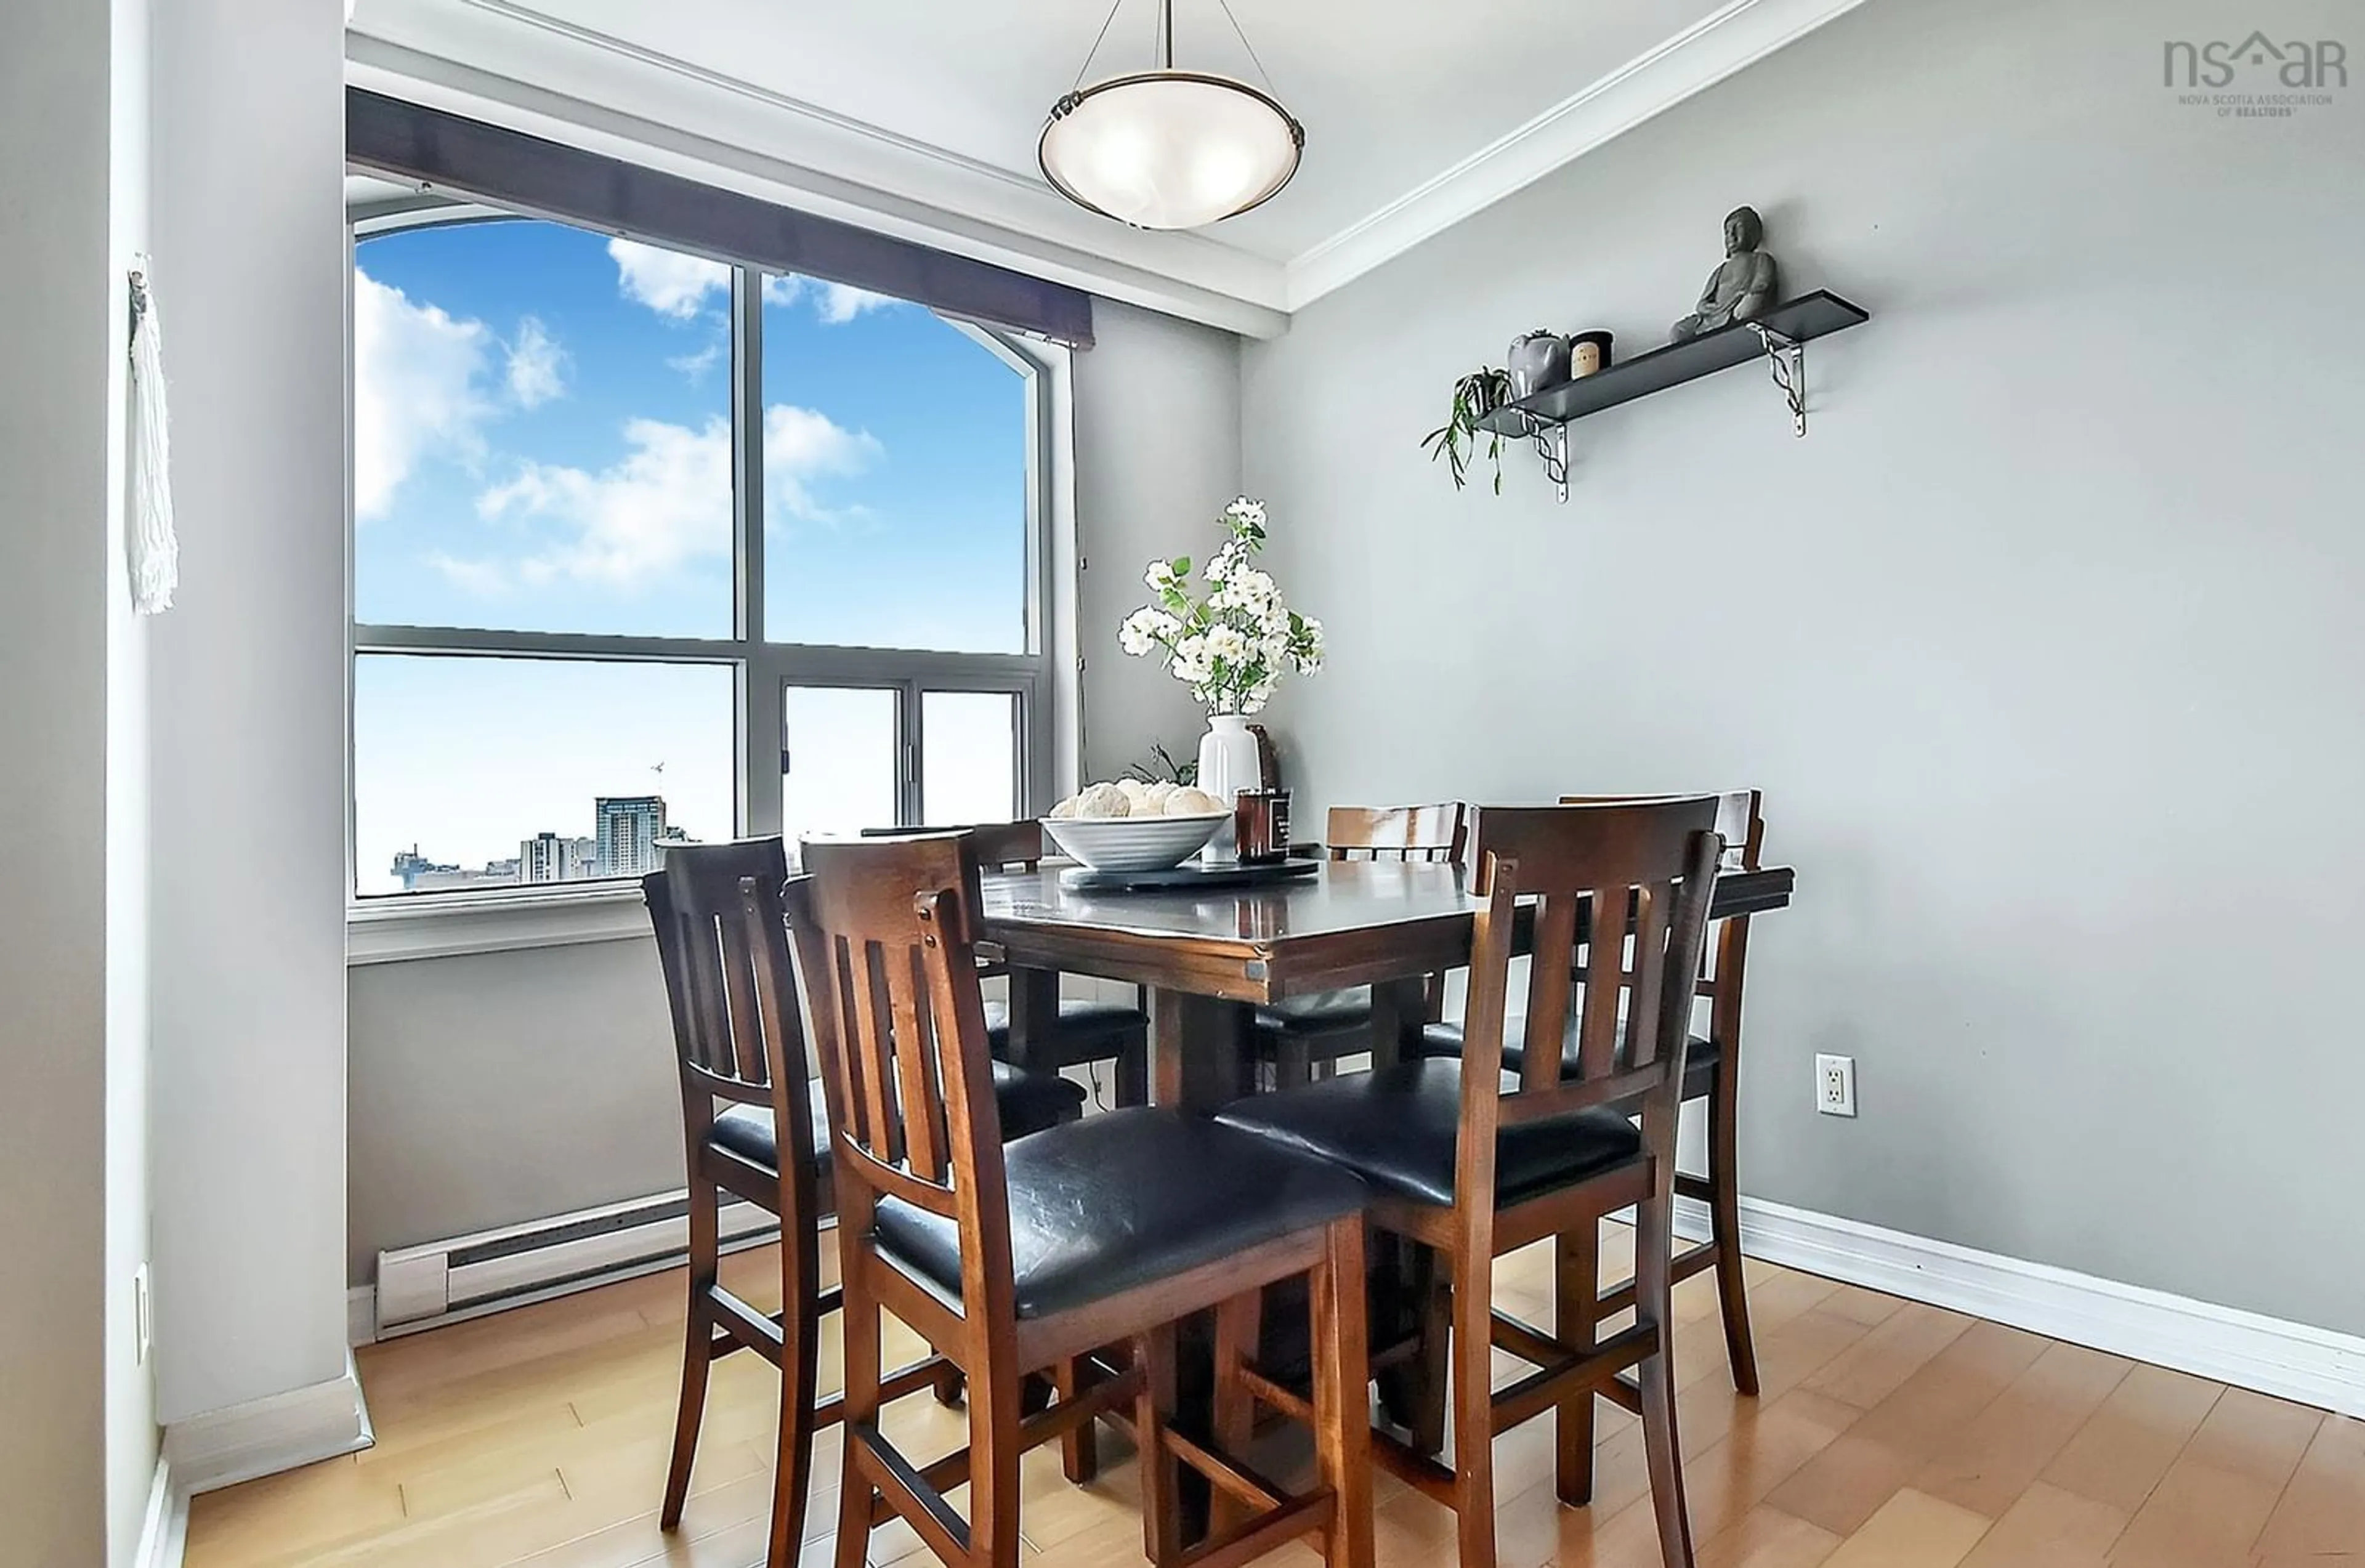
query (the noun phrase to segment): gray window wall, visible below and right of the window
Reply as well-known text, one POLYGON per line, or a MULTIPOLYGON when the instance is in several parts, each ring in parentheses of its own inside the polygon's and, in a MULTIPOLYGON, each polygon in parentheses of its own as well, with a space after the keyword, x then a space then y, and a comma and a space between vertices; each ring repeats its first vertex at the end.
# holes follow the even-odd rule
MULTIPOLYGON (((1088 769, 1107 776, 1149 738, 1197 745, 1187 693, 1126 660, 1116 622, 1149 556, 1206 530, 1239 487, 1239 345, 1109 303, 1097 336, 1074 374, 1076 527, 1088 769)), ((648 939, 357 965, 348 1060, 352 1284, 381 1249, 681 1185, 648 939)))

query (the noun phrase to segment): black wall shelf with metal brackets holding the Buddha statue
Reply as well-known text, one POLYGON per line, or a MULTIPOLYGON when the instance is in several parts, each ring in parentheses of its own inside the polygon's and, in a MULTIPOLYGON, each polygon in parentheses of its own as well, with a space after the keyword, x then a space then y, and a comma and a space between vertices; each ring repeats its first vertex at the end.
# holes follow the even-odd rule
POLYGON ((1606 371, 1549 385, 1533 397, 1507 402, 1478 421, 1492 435, 1533 438, 1559 497, 1568 499, 1568 426, 1570 421, 1634 402, 1670 385, 1729 371, 1750 359, 1764 359, 1767 374, 1790 404, 1800 435, 1807 433, 1807 341, 1835 333, 1871 312, 1849 305, 1828 289, 1783 300, 1755 322, 1734 322, 1684 343, 1653 348, 1648 355, 1613 364, 1606 371))

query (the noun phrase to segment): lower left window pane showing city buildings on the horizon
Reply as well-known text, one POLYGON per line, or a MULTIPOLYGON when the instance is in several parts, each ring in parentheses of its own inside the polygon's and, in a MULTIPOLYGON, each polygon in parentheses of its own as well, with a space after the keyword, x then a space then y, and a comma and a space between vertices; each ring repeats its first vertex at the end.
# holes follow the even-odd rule
POLYGON ((736 710, 724 665, 364 653, 357 892, 636 877, 674 837, 728 840, 736 710))

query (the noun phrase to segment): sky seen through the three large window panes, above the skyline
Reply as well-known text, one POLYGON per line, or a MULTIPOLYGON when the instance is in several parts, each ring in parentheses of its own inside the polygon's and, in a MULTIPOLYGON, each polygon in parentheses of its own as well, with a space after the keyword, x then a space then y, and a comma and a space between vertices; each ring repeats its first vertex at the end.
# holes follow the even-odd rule
MULTIPOLYGON (((364 239, 355 270, 357 620, 731 634, 717 263, 501 220, 364 239)), ((1019 650, 1024 378, 915 305, 764 300, 769 634, 1019 650)), ((731 717, 719 669, 364 657, 359 887, 412 842, 473 866, 589 832, 594 795, 660 788, 726 837, 731 717)))

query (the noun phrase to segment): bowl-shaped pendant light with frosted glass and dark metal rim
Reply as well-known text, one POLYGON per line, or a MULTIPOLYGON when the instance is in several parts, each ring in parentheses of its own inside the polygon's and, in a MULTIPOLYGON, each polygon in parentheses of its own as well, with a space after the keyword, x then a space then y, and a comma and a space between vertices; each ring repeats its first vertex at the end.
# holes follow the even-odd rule
MULTIPOLYGON (((1109 7, 1109 21, 1121 5, 1109 7)), ((1232 17, 1225 0, 1218 5, 1232 17)), ((1263 76, 1249 35, 1239 33, 1239 43, 1263 76)), ((1173 0, 1159 0, 1156 69, 1090 88, 1083 71, 1076 90, 1050 106, 1041 144, 1043 177, 1078 206, 1140 229, 1197 229, 1270 201, 1298 173, 1305 128, 1279 99, 1232 76, 1175 69, 1173 0)))

